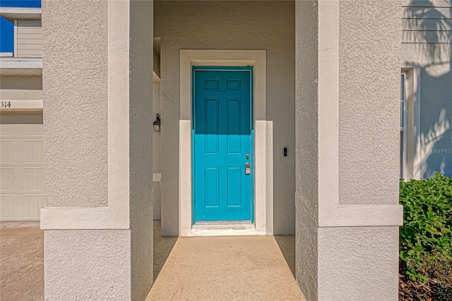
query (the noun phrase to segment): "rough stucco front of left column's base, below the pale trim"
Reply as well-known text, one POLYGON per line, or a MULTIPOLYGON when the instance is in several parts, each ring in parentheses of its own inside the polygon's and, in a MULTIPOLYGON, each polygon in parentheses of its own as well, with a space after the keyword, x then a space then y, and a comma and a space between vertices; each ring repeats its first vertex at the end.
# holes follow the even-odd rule
POLYGON ((44 231, 45 300, 130 300, 130 244, 129 230, 44 231))

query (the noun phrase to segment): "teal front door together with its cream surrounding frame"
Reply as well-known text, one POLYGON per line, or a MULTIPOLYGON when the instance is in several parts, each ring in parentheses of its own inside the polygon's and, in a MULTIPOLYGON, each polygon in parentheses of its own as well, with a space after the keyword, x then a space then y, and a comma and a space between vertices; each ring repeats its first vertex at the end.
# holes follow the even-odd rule
POLYGON ((179 235, 273 234, 266 51, 180 54, 179 235))

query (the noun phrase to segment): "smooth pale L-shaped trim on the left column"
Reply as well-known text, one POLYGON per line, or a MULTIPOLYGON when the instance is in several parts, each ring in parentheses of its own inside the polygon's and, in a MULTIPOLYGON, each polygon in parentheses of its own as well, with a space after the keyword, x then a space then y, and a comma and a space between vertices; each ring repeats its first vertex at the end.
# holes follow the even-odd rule
POLYGON ((129 1, 109 0, 108 207, 41 209, 42 229, 130 228, 129 17, 129 1))

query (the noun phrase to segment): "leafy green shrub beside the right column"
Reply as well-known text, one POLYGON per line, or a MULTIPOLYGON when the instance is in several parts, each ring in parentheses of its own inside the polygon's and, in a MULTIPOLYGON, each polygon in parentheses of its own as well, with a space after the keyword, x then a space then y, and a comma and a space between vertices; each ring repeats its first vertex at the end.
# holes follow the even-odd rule
MULTIPOLYGON (((402 273, 412 281, 425 282, 431 277, 427 265, 439 257, 448 263, 452 259, 452 179, 435 173, 426 180, 400 180, 400 204, 402 273)), ((452 266, 442 272, 452 274, 452 266)))

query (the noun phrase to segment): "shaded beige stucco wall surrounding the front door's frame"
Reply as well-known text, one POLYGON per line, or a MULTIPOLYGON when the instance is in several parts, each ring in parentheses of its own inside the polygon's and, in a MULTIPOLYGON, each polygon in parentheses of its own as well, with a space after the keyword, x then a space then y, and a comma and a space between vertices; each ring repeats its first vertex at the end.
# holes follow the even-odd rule
POLYGON ((179 234, 179 50, 267 53, 267 121, 273 121, 275 234, 295 232, 295 12, 293 1, 155 1, 161 38, 162 235, 179 234), (287 147, 287 156, 283 148, 287 147))

